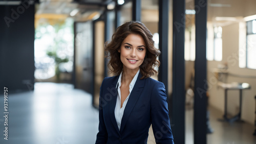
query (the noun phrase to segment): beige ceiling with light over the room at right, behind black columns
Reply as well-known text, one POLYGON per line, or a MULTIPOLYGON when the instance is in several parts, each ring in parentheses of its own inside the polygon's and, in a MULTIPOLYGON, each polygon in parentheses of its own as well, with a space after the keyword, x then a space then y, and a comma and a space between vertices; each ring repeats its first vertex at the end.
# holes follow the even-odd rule
MULTIPOLYGON (((195 7, 195 0, 186 0, 186 9, 195 7)), ((208 0, 207 21, 217 26, 230 25, 256 14, 255 0, 208 0)))

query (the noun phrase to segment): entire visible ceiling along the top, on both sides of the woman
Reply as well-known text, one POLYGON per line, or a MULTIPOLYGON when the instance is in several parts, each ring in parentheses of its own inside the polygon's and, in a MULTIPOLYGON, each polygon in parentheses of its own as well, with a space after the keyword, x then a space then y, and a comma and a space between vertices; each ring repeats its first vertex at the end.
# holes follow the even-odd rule
MULTIPOLYGON (((87 20, 103 13, 112 0, 39 0, 36 15, 56 14, 73 17, 75 20, 87 20), (74 16, 70 13, 77 9, 74 16)), ((142 0, 142 9, 158 10, 158 1, 142 0)), ((186 0, 186 9, 194 8, 195 0, 186 0)), ((245 17, 256 14, 255 0, 208 0, 208 21, 216 17, 245 17)), ((227 19, 228 20, 228 19, 227 19)), ((219 21, 220 22, 220 21, 219 21)))

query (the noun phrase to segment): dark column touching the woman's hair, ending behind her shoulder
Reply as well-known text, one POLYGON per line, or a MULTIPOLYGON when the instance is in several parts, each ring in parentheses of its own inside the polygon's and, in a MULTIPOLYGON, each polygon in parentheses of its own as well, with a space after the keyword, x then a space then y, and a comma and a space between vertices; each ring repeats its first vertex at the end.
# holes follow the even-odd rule
POLYGON ((168 0, 159 0, 159 50, 162 54, 159 56, 161 62, 159 66, 158 80, 165 85, 168 93, 168 0))

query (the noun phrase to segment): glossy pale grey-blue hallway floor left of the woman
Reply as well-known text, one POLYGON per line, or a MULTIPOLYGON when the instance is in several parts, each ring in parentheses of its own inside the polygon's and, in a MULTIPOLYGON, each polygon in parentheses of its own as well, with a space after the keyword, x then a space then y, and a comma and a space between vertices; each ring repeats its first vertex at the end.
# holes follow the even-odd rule
MULTIPOLYGON (((95 143, 98 111, 92 97, 70 84, 36 83, 34 91, 8 93, 8 140, 0 117, 0 143, 95 143)), ((0 97, 0 111, 4 108, 0 97)), ((1 114, 3 115, 3 113, 1 114)))

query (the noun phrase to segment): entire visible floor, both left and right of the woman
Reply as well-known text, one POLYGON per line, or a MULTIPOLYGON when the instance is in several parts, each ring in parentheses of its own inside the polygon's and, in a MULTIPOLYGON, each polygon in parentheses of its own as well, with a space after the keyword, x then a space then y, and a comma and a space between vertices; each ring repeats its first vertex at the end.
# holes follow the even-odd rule
MULTIPOLYGON (((4 98, 0 97, 0 109, 3 103, 4 98)), ((73 85, 35 83, 34 91, 9 91, 8 110, 8 140, 3 135, 5 119, 0 116, 0 143, 95 143, 98 111, 92 107, 91 95, 74 89, 73 85)), ((219 122, 221 116, 220 111, 210 108, 214 133, 207 135, 208 144, 256 143, 253 125, 219 122)), ((148 143, 154 143, 153 134, 150 135, 148 143)), ((193 143, 193 110, 186 110, 186 144, 190 143, 193 143)))

